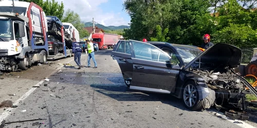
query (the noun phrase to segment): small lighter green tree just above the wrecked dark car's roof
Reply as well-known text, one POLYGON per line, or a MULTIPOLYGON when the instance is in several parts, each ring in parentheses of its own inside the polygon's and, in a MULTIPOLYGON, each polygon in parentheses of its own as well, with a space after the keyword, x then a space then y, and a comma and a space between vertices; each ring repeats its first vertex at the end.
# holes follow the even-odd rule
POLYGON ((167 42, 170 37, 166 37, 167 34, 169 33, 169 29, 166 28, 162 32, 160 25, 156 26, 156 37, 151 37, 151 41, 162 41, 162 42, 167 42))

